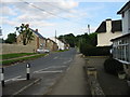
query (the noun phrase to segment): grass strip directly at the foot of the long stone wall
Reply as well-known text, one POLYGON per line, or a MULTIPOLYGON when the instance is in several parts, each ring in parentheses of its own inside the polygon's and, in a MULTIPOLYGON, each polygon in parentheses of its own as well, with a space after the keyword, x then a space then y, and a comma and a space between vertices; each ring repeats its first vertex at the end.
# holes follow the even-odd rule
POLYGON ((37 54, 37 53, 12 53, 12 54, 3 54, 3 55, 0 55, 0 59, 11 59, 11 58, 17 58, 17 57, 34 55, 34 54, 37 54))

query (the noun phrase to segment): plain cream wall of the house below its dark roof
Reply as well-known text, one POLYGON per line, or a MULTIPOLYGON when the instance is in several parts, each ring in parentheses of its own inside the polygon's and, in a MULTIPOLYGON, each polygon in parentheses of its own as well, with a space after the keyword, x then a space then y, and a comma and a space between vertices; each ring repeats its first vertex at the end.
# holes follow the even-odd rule
POLYGON ((98 46, 109 46, 112 45, 110 40, 117 37, 120 37, 122 33, 120 32, 101 32, 98 33, 98 46))

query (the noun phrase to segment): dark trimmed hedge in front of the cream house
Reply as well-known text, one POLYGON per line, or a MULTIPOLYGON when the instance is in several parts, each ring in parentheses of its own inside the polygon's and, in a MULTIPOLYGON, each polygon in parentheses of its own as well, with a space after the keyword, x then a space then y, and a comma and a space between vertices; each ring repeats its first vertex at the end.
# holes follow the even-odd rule
POLYGON ((110 46, 82 45, 80 52, 86 56, 109 56, 110 46))

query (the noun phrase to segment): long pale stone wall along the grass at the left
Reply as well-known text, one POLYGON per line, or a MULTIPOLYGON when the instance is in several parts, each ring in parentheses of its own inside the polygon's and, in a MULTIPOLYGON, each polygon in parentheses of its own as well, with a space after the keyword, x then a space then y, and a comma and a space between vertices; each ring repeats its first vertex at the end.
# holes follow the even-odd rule
MULTIPOLYGON (((2 44, 2 54, 10 53, 34 53, 36 46, 34 45, 22 45, 22 44, 2 44)), ((1 54, 1 52, 0 52, 1 54)))

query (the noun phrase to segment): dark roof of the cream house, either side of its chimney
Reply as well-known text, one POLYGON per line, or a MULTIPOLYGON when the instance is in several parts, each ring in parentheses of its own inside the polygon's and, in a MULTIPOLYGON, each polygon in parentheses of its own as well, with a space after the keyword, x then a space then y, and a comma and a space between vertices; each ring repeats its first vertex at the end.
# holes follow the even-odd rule
MULTIPOLYGON (((121 19, 112 20, 112 32, 122 31, 121 19)), ((102 22, 95 32, 106 32, 106 20, 102 22)))

